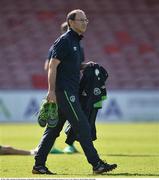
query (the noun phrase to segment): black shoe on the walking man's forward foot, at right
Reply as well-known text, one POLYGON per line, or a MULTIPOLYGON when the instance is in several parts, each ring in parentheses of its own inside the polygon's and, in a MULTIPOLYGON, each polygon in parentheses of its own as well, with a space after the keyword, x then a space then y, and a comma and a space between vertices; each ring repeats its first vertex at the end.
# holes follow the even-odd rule
POLYGON ((102 174, 104 172, 112 171, 117 168, 117 164, 108 164, 103 161, 99 161, 96 167, 93 167, 93 174, 102 174))

